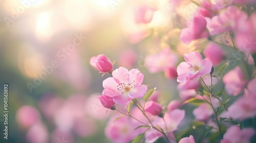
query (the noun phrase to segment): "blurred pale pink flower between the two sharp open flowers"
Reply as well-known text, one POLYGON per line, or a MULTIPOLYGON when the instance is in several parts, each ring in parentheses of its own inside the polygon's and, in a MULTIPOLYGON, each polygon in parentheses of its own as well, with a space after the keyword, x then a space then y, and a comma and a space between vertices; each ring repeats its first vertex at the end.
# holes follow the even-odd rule
POLYGON ((161 52, 145 57, 145 66, 150 73, 155 74, 159 71, 175 68, 177 62, 176 54, 170 51, 169 47, 165 47, 161 52))

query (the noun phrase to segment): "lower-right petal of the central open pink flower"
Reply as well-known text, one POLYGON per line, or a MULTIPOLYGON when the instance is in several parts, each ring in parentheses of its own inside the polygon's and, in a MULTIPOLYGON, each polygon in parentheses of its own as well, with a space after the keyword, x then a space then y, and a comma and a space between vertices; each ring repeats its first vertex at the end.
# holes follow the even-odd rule
POLYGON ((147 90, 147 87, 144 84, 134 86, 133 88, 131 88, 131 90, 129 92, 129 97, 130 98, 142 98, 144 96, 146 90, 147 90))

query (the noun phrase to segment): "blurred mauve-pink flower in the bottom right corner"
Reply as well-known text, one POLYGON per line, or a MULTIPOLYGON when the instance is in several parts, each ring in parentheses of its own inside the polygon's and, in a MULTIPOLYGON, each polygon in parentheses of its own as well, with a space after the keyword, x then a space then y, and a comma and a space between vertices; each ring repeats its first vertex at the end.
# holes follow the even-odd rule
POLYGON ((221 140, 221 143, 228 142, 250 142, 250 138, 255 134, 252 128, 244 128, 240 130, 239 126, 233 125, 229 127, 221 140))

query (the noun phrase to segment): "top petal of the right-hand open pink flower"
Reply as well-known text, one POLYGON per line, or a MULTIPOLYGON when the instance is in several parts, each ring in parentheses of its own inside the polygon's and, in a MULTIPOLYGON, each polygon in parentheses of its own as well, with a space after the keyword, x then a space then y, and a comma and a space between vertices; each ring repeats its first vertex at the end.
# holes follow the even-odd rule
POLYGON ((202 56, 199 52, 189 52, 184 54, 184 59, 188 64, 199 64, 200 66, 202 63, 202 56))

